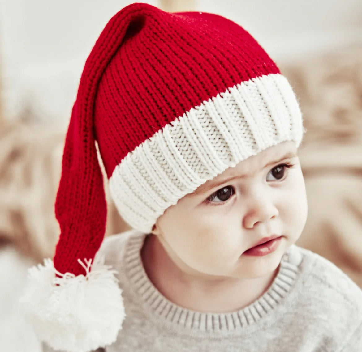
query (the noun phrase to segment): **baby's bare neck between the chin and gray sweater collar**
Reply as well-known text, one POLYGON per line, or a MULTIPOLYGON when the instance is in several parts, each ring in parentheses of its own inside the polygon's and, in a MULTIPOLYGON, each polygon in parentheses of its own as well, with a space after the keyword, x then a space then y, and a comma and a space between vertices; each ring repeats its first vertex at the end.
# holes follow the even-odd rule
POLYGON ((267 291, 278 271, 257 279, 198 280, 172 261, 154 235, 145 241, 141 256, 148 278, 163 296, 198 312, 227 313, 248 306, 267 291))

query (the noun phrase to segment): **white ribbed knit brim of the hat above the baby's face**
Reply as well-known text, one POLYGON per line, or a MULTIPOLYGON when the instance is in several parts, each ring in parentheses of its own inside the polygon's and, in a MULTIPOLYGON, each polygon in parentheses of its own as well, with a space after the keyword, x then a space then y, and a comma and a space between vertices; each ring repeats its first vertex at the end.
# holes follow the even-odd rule
POLYGON ((286 78, 253 78, 191 108, 127 154, 110 177, 110 193, 127 223, 150 232, 169 206, 206 181, 283 141, 299 147, 303 133, 286 78))

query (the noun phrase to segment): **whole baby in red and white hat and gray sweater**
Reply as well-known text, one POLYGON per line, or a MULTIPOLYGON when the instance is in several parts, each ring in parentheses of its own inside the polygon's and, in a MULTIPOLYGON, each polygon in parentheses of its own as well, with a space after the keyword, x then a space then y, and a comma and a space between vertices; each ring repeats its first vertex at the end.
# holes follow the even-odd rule
POLYGON ((44 351, 361 352, 362 291, 294 244, 304 132, 288 81, 236 23, 118 12, 72 110, 54 262, 22 299, 44 351), (95 142, 133 228, 104 241, 95 142))

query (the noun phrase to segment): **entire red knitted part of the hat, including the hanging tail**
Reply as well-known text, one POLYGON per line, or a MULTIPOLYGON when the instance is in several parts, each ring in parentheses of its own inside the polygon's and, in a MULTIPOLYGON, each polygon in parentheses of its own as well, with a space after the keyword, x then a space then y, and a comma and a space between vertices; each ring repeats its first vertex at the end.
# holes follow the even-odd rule
POLYGON ((108 177, 135 147, 178 116, 238 83, 280 73, 256 40, 218 15, 131 4, 106 25, 84 66, 55 204, 58 271, 84 274, 104 237, 108 177))

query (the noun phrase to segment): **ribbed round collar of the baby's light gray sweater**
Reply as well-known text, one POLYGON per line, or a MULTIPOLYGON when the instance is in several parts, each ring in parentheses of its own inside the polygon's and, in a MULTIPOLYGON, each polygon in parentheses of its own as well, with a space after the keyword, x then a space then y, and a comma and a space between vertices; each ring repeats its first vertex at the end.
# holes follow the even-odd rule
POLYGON ((145 234, 136 233, 127 240, 123 257, 126 276, 132 291, 139 296, 142 305, 151 312, 153 317, 176 328, 184 327, 195 332, 211 333, 241 331, 249 325, 254 325, 277 308, 283 298, 291 291, 291 287, 298 276, 298 265, 301 257, 298 258, 299 253, 294 253, 294 257, 291 257, 292 248, 290 248, 282 257, 277 276, 275 276, 269 289, 252 304, 231 313, 195 312, 173 304, 152 284, 144 270, 140 256, 145 237, 145 234))

